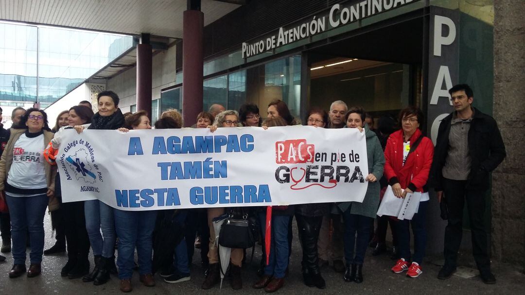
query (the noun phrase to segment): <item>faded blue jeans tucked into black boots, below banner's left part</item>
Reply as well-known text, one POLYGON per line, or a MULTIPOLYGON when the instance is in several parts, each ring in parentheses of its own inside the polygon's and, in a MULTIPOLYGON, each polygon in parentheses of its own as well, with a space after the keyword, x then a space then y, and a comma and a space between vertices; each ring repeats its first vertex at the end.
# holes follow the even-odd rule
POLYGON ((90 200, 84 202, 84 213, 93 255, 113 257, 116 240, 113 208, 99 200, 90 200))

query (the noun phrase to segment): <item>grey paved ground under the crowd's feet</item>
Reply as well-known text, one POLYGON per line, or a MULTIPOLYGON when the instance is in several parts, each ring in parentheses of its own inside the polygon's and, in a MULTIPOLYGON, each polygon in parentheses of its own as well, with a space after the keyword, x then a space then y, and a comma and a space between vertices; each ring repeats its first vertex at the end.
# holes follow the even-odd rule
MULTIPOLYGON (((295 223, 295 222, 294 222, 295 223)), ((296 229, 294 229, 296 230, 296 229)), ((54 243, 51 237, 49 215, 46 215, 46 248, 54 243)), ((297 237, 297 233, 295 235, 297 237)), ((439 270, 439 257, 429 257, 424 264, 424 273, 417 279, 407 278, 404 275, 397 275, 390 271, 393 261, 387 256, 373 257, 371 249, 367 252, 364 265, 364 282, 361 284, 346 283, 342 279, 342 274, 334 272, 327 267, 322 269, 323 277, 327 281, 327 289, 319 290, 308 288, 303 285, 300 272, 300 246, 297 239, 293 241, 292 259, 290 262, 290 273, 286 278, 285 287, 279 293, 288 294, 386 294, 386 293, 413 293, 413 294, 510 294, 522 292, 525 288, 525 275, 516 269, 502 264, 493 264, 493 270, 497 278, 496 285, 485 285, 481 282, 477 271, 472 270, 472 259, 469 255, 463 257, 463 268, 459 275, 470 278, 453 276, 449 280, 440 281, 436 278, 439 270), (433 262, 437 261, 437 262, 433 262), (521 290, 521 291, 520 291, 521 290)), ((118 294, 119 280, 112 277, 111 280, 102 286, 93 286, 92 283, 83 283, 80 279, 69 280, 67 277, 60 277, 60 268, 66 262, 66 256, 44 256, 43 273, 36 278, 25 276, 9 279, 8 271, 12 267, 13 259, 9 254, 6 262, 0 262, 0 294, 118 294)), ((251 285, 257 280, 256 260, 260 254, 256 251, 253 262, 248 263, 243 268, 244 289, 234 291, 230 288, 229 282, 225 281, 223 289, 214 288, 204 291, 200 288, 204 280, 202 268, 199 267, 199 252, 195 252, 192 279, 188 282, 179 284, 169 284, 155 276, 157 285, 153 288, 144 287, 140 284, 138 273, 133 275, 133 294, 262 294, 264 291, 255 290, 251 285)))

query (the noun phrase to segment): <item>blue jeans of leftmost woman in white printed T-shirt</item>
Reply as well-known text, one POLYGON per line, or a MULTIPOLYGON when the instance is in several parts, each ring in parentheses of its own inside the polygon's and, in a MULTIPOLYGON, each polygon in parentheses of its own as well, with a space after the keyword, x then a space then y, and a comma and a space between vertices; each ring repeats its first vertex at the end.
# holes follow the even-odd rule
POLYGON ((46 194, 34 197, 12 197, 6 194, 11 215, 14 264, 26 264, 26 238, 29 230, 31 264, 40 264, 44 254, 44 215, 49 198, 46 194))

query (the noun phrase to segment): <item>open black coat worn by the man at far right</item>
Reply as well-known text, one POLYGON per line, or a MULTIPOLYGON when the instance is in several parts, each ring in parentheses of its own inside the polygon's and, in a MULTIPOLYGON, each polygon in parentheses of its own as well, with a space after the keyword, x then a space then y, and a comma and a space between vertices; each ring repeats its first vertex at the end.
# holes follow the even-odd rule
MULTIPOLYGON (((429 185, 436 191, 443 191, 443 173, 448 153, 448 135, 452 113, 439 124, 434 162, 430 168, 429 185)), ((471 159, 468 189, 486 190, 489 188, 489 172, 505 159, 505 144, 501 138, 496 120, 474 108, 474 118, 468 132, 468 150, 471 159)))

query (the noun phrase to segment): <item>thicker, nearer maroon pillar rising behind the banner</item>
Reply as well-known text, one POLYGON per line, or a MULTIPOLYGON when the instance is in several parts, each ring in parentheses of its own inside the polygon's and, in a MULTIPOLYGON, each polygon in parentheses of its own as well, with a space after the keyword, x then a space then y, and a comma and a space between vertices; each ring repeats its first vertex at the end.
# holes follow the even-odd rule
POLYGON ((196 123, 197 114, 203 108, 203 29, 204 14, 199 9, 186 10, 182 34, 182 117, 185 127, 196 123))

